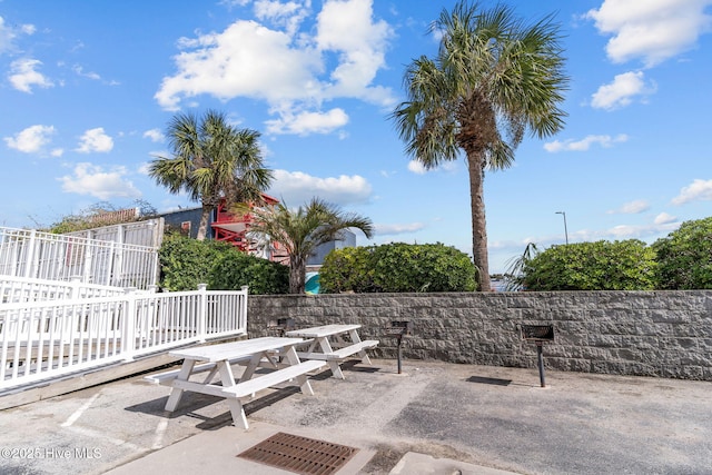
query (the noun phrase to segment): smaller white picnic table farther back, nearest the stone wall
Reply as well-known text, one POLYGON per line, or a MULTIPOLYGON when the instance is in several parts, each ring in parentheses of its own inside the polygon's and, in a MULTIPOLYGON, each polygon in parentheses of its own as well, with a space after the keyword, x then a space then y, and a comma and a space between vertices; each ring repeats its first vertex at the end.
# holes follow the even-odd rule
POLYGON ((307 350, 297 352, 297 355, 303 359, 326 362, 334 376, 345 379, 339 364, 358 354, 363 363, 370 365, 366 349, 378 345, 377 339, 362 340, 358 336, 359 328, 360 325, 322 325, 289 330, 285 336, 310 338, 307 350))

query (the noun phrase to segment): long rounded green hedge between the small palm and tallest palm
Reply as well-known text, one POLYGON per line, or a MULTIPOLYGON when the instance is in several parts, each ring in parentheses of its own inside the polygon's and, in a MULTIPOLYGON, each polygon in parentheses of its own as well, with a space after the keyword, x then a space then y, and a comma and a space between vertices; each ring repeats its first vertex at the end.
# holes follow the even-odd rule
POLYGON ((319 283, 323 293, 472 291, 475 266, 443 244, 386 244, 333 250, 319 283))

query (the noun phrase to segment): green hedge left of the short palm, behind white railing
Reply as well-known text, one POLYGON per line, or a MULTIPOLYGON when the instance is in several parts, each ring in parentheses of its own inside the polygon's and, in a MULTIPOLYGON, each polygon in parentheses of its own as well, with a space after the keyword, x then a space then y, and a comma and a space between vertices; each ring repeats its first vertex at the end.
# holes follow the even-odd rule
POLYGON ((247 285, 250 294, 287 291, 286 266, 245 255, 225 243, 166 235, 159 259, 161 287, 167 290, 195 290, 198 284, 208 284, 214 290, 247 285))

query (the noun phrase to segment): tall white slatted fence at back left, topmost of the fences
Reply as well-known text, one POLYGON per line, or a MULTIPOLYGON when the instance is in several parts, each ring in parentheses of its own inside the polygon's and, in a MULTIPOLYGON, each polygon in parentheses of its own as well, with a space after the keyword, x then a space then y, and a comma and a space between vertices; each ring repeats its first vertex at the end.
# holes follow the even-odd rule
POLYGON ((0 275, 147 289, 158 278, 158 248, 0 227, 0 275))

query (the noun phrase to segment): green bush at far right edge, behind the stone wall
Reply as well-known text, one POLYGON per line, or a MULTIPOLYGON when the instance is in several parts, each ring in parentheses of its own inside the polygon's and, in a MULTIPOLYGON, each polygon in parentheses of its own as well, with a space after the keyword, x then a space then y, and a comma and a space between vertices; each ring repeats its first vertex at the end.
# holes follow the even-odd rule
POLYGON ((657 288, 712 289, 712 217, 685 221, 652 247, 657 288))

